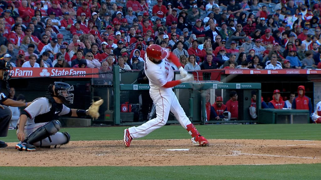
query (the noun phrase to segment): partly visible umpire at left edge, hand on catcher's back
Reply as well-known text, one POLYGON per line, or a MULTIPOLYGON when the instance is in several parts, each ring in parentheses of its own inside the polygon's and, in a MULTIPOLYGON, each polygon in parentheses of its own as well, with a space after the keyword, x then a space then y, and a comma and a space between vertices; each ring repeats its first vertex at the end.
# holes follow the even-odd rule
MULTIPOLYGON (((12 70, 12 65, 9 62, 5 62, 4 60, 1 60, 0 61, 0 79, 3 81, 8 81, 12 76, 10 70, 12 70)), ((26 107, 31 102, 18 102, 12 99, 8 99, 7 96, 1 91, 0 91, 0 102, 2 102, 2 104, 5 105, 5 106, 0 105, 0 137, 6 137, 8 135, 8 128, 9 128, 11 115, 12 115, 11 110, 7 106, 26 107)), ((7 146, 8 144, 0 140, 0 148, 4 148, 7 146)))

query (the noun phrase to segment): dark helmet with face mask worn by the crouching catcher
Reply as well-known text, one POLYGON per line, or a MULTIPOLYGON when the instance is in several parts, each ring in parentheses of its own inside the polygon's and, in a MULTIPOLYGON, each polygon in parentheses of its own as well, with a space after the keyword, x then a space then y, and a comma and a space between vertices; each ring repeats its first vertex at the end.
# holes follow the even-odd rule
POLYGON ((74 86, 70 86, 67 83, 63 82, 54 82, 54 84, 49 85, 48 87, 48 94, 51 96, 58 97, 66 104, 72 104, 74 102, 74 86), (53 89, 55 86, 55 89, 53 89))

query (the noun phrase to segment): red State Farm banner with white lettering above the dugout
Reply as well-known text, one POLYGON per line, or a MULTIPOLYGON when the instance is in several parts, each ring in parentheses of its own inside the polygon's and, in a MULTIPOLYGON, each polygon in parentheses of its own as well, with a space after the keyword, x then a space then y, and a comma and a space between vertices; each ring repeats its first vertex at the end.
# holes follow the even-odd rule
POLYGON ((98 78, 98 74, 93 74, 98 73, 97 68, 13 68, 10 72, 12 73, 12 78, 98 78))

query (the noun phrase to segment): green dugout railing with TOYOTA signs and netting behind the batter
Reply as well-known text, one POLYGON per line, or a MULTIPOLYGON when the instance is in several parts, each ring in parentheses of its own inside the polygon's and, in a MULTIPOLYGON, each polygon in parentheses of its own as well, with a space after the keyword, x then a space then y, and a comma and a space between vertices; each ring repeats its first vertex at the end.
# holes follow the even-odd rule
MULTIPOLYGON (((137 72, 133 73, 133 76, 137 76, 137 72)), ((103 86, 107 90, 108 102, 111 102, 113 108, 107 109, 106 106, 102 107, 105 113, 104 120, 101 123, 111 125, 141 125, 148 120, 146 116, 142 117, 141 109, 142 103, 139 101, 141 94, 148 94, 148 84, 137 84, 137 82, 126 84, 123 83, 124 78, 120 75, 119 66, 113 67, 113 84, 111 86, 103 86), (121 84, 121 82, 123 84, 121 84), (112 91, 112 92, 111 92, 112 91), (112 96, 110 95, 112 94, 112 96), (112 100, 110 100, 112 98, 112 100), (125 102, 133 105, 131 112, 121 112, 122 105, 125 102), (137 110, 138 109, 138 110, 137 110), (137 112, 138 111, 138 112, 137 112), (137 115, 137 113, 139 113, 137 115)), ((130 75, 129 75, 130 76, 130 75)), ((179 76, 176 76, 178 79, 179 76)), ((178 100, 185 110, 189 119, 195 124, 225 124, 225 123, 255 123, 256 119, 252 119, 249 114, 249 106, 251 105, 251 93, 253 90, 256 91, 257 99, 261 99, 261 84, 260 83, 220 83, 220 82, 204 82, 195 81, 182 83, 173 88, 178 100), (205 96, 204 92, 211 94, 211 104, 215 102, 217 96, 223 97, 225 103, 229 98, 229 93, 232 90, 236 90, 239 94, 239 118, 232 121, 220 120, 207 120, 206 109, 205 109, 205 96), (203 94, 203 95, 202 95, 203 94)), ((260 109, 260 103, 257 102, 257 109, 260 109)), ((128 106, 126 106, 128 108, 128 106)), ((126 109, 126 108, 125 108, 126 109)), ((259 113, 257 113, 259 115, 259 113)), ((168 124, 178 124, 178 121, 169 115, 168 124)))

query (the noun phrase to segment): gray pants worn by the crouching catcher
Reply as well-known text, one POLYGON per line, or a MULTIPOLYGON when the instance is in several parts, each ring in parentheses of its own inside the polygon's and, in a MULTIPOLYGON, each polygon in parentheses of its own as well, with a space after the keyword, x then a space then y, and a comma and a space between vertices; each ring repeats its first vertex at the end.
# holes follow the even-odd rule
MULTIPOLYGON (((44 126, 45 124, 47 124, 48 122, 45 123, 35 123, 35 124, 30 124, 27 126, 24 126, 24 135, 25 137, 28 137, 28 135, 30 135, 32 132, 34 132, 35 130, 37 130, 39 127, 44 126)), ((18 124, 19 127, 19 124, 18 124)), ((19 128, 17 129, 17 134, 19 133, 19 128)), ((34 146, 41 146, 45 147, 45 146, 51 146, 51 145, 58 145, 58 144, 64 144, 68 141, 67 137, 61 133, 61 132, 57 132, 54 135, 50 136, 50 140, 49 138, 45 138, 43 140, 33 143, 32 145, 34 146), (51 140, 51 142, 50 142, 51 140)))

